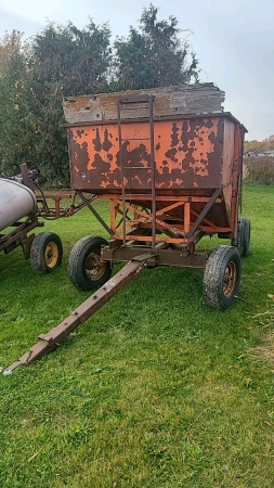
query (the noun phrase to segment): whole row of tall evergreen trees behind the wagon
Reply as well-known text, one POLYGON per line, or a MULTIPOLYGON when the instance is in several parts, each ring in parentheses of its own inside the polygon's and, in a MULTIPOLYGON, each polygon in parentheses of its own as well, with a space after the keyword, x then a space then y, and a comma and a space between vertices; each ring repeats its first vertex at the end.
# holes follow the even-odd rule
POLYGON ((115 41, 108 24, 91 18, 82 29, 48 23, 28 40, 6 33, 0 39, 1 170, 14 175, 27 163, 48 184, 67 185, 63 97, 188 84, 198 73, 179 21, 158 20, 153 4, 143 9, 138 28, 115 41))

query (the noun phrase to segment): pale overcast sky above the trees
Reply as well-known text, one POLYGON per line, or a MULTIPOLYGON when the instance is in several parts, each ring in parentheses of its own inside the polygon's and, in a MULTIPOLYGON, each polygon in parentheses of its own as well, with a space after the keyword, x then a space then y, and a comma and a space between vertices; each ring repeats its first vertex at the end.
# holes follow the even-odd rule
MULTIPOLYGON (((224 108, 248 129, 247 140, 274 134, 274 0, 153 0, 158 18, 174 15, 199 60, 200 81, 225 91, 224 108)), ((17 29, 31 37, 47 22, 82 28, 109 22, 127 36, 149 0, 0 0, 0 38, 17 29)), ((71 93, 73 94, 73 93, 71 93)))

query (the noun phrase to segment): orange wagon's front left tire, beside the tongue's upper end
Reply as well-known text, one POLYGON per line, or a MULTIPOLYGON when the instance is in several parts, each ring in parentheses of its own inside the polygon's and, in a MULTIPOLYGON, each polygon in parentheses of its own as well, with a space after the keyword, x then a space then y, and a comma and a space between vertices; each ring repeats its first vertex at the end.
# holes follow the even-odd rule
POLYGON ((78 290, 96 290, 112 277, 110 262, 104 261, 103 265, 100 262, 101 246, 106 244, 107 241, 103 237, 87 235, 73 247, 67 270, 69 280, 78 290), (89 264, 88 259, 90 259, 89 264), (92 268, 91 265, 94 265, 94 261, 100 266, 92 268))

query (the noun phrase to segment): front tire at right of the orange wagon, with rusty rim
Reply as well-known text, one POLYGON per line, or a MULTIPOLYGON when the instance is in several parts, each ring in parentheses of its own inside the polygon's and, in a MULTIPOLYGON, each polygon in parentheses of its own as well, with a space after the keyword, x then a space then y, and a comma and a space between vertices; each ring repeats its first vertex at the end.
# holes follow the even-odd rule
POLYGON ((242 274, 239 252, 234 246, 218 246, 206 262, 203 293, 208 307, 225 310, 238 295, 242 274))

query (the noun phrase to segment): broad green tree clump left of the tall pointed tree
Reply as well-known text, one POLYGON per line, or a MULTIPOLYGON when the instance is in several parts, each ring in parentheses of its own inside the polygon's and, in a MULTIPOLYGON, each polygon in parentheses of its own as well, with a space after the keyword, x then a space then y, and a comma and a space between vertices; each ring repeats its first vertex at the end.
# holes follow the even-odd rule
POLYGON ((0 81, 2 168, 22 163, 40 169, 51 184, 68 184, 68 156, 62 100, 67 94, 104 90, 110 60, 107 25, 90 21, 47 25, 32 38, 28 55, 17 50, 0 81))

